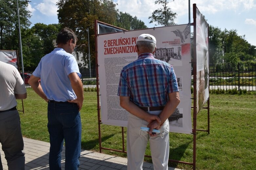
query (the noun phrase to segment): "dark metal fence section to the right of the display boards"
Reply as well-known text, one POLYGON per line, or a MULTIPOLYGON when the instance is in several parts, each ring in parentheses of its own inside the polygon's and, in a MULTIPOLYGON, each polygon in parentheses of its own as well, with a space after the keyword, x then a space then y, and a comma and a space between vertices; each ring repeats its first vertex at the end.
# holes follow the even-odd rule
POLYGON ((224 63, 209 67, 210 89, 256 91, 256 64, 224 63))

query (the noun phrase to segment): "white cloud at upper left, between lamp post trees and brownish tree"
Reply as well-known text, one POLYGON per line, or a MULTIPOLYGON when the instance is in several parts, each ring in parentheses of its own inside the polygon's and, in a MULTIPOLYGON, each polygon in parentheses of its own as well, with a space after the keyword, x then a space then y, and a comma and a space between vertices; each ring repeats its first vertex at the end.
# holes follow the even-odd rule
POLYGON ((57 16, 57 1, 58 0, 43 0, 43 2, 39 3, 35 8, 46 16, 57 16))

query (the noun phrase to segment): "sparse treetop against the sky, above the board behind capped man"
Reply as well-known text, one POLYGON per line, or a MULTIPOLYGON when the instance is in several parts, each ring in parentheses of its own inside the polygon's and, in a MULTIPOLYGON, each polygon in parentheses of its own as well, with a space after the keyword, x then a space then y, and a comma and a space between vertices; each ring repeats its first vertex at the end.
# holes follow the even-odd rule
POLYGON ((161 4, 163 8, 156 9, 152 16, 148 17, 151 19, 149 23, 157 22, 155 25, 175 25, 174 19, 176 18, 176 13, 171 11, 171 8, 167 7, 168 5, 167 0, 156 0, 155 4, 161 4))

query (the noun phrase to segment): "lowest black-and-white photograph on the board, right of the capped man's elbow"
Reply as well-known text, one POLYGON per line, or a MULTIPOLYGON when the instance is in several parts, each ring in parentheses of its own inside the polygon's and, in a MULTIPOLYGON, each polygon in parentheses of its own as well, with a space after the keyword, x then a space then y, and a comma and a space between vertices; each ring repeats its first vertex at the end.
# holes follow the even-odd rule
POLYGON ((169 126, 183 127, 183 108, 176 108, 168 121, 169 126))

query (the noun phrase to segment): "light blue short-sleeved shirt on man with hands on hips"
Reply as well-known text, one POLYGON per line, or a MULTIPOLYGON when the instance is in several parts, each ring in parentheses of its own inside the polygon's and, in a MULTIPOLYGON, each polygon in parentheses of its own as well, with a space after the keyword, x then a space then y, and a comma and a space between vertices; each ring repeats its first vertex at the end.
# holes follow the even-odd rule
POLYGON ((67 101, 76 99, 68 76, 72 72, 81 78, 75 57, 62 48, 55 48, 41 59, 33 75, 41 79, 47 99, 67 101))

